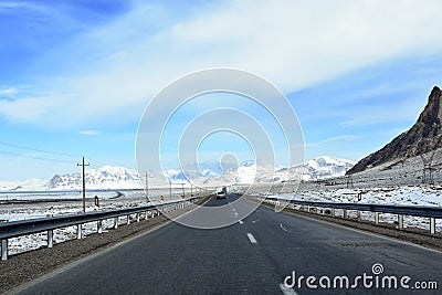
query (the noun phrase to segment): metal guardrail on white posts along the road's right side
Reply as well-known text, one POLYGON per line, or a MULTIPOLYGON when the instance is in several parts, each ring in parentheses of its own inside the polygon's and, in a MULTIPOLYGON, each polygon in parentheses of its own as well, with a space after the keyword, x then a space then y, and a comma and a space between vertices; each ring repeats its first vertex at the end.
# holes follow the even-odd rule
POLYGON ((336 217, 336 209, 344 210, 344 218, 348 217, 347 211, 357 211, 358 221, 361 221, 360 212, 375 212, 375 223, 379 224, 379 214, 389 213, 398 215, 398 226, 403 229, 403 217, 421 217, 430 219, 430 233, 435 234, 435 219, 442 219, 442 207, 427 206, 393 206, 393 204, 369 204, 369 203, 337 203, 337 202, 315 202, 301 200, 285 200, 280 198, 260 198, 264 202, 272 204, 290 203, 292 209, 299 206, 299 209, 306 208, 311 212, 312 208, 332 209, 332 215, 336 217))

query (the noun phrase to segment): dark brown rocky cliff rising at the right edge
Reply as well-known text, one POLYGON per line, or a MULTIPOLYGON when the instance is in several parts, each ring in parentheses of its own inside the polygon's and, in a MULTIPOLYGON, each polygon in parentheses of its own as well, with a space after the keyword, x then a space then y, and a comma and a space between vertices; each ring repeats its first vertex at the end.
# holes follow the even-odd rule
POLYGON ((434 87, 418 122, 382 149, 361 159, 347 175, 364 171, 387 161, 415 157, 442 147, 442 91, 434 87))

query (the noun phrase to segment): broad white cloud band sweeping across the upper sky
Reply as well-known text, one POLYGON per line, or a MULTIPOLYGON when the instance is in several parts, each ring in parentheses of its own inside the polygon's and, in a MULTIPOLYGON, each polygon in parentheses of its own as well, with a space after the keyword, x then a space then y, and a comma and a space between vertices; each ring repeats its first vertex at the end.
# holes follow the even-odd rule
POLYGON ((178 19, 166 7, 135 2, 124 15, 39 60, 72 67, 45 89, 51 98, 43 101, 44 108, 40 99, 24 97, 8 106, 3 102, 0 112, 22 120, 8 109, 33 105, 39 112, 28 120, 42 124, 134 120, 166 83, 203 67, 251 70, 292 92, 391 57, 442 51, 440 1, 231 1, 193 10, 191 20, 178 19), (168 21, 154 25, 161 18, 168 21), (75 56, 75 66, 69 56, 75 56))

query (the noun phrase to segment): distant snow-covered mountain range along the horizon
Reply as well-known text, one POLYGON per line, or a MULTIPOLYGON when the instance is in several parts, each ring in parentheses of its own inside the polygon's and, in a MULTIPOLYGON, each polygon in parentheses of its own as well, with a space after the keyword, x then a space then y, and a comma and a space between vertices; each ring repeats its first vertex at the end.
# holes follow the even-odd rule
MULTIPOLYGON (((355 165, 354 161, 333 157, 319 157, 292 168, 281 168, 274 171, 271 168, 255 165, 253 161, 235 165, 201 164, 186 167, 186 171, 167 170, 165 176, 175 183, 182 183, 191 179, 194 183, 219 186, 222 183, 265 183, 282 182, 302 175, 303 180, 316 180, 344 176, 355 165)), ((134 169, 124 167, 104 166, 99 169, 86 170, 87 189, 139 189, 145 183, 145 177, 138 176, 134 169)), ((164 175, 149 173, 149 187, 164 186, 164 175)), ((82 175, 55 175, 51 180, 32 179, 23 182, 0 181, 0 191, 24 190, 80 190, 82 175)))

